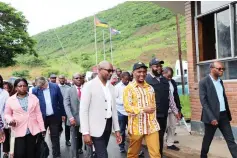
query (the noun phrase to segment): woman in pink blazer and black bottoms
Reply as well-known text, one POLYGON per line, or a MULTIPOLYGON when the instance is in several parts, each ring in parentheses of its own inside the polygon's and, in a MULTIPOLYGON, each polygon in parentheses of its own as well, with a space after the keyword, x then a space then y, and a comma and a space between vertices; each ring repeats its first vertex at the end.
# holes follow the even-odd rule
POLYGON ((16 94, 6 102, 5 119, 15 135, 14 158, 35 158, 37 134, 45 131, 39 100, 29 94, 26 79, 14 83, 16 94))

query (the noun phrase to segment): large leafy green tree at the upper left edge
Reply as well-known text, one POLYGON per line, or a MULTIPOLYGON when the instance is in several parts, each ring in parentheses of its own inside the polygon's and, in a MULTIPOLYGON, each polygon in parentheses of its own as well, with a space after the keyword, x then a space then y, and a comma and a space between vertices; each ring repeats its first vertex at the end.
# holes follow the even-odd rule
POLYGON ((37 56, 35 41, 27 33, 27 24, 21 12, 0 2, 0 67, 13 65, 17 54, 37 56))

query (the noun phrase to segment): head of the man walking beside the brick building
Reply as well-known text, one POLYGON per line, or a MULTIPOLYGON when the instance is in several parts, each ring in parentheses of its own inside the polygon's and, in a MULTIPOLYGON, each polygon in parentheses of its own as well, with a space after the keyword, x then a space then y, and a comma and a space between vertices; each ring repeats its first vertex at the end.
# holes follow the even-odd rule
POLYGON ((216 77, 221 77, 223 76, 223 73, 225 71, 225 67, 222 62, 220 61, 215 61, 210 64, 210 71, 211 74, 216 76, 216 77))

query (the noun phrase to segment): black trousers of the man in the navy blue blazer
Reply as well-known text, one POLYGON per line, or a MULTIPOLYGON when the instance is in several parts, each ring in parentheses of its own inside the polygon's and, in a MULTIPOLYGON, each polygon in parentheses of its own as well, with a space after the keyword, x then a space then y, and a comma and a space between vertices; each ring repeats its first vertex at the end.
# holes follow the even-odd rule
POLYGON ((59 157, 61 155, 60 141, 59 141, 61 121, 62 121, 61 117, 56 117, 54 115, 47 116, 44 120, 45 129, 47 129, 49 127, 49 130, 50 130, 50 138, 51 138, 51 142, 52 142, 53 157, 59 157))

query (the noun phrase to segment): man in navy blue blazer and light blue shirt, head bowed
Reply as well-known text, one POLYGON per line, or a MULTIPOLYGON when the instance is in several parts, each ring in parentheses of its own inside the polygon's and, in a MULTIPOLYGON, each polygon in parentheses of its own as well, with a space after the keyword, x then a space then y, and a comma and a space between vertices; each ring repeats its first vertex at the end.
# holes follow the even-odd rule
POLYGON ((65 118, 63 96, 55 83, 48 83, 44 77, 36 79, 36 87, 32 93, 40 102, 40 109, 44 118, 45 129, 49 127, 53 148, 53 157, 60 157, 60 122, 65 118))

